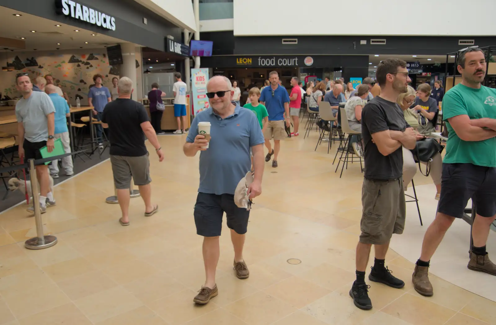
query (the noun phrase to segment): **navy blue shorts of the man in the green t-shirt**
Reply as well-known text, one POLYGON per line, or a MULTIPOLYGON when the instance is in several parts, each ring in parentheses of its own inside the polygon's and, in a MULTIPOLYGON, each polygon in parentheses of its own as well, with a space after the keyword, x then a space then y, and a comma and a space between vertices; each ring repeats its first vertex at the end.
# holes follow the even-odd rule
POLYGON ((469 198, 482 217, 496 214, 496 168, 474 164, 442 164, 438 212, 461 218, 469 198))

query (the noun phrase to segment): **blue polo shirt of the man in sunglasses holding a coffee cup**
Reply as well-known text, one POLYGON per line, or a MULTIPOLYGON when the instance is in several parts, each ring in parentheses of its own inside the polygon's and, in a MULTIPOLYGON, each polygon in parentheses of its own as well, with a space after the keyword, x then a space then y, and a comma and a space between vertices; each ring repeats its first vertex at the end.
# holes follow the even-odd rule
POLYGON ((198 192, 234 194, 251 168, 250 148, 265 142, 258 120, 249 109, 239 105, 225 119, 209 108, 195 116, 186 142, 194 142, 199 122, 210 122, 211 139, 208 149, 200 151, 198 192))

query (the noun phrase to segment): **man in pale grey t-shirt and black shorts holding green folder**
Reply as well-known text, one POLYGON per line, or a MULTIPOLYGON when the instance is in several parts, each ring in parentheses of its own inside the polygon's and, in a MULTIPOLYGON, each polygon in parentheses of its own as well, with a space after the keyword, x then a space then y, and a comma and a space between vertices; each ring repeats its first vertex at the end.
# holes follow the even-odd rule
MULTIPOLYGON (((54 149, 55 107, 50 97, 44 92, 34 92, 33 84, 27 73, 15 76, 17 90, 22 98, 15 106, 17 131, 19 134, 19 158, 41 159, 40 148, 47 146, 49 152, 54 149)), ((48 165, 36 166, 36 176, 40 182, 40 208, 47 211, 55 205, 55 198, 50 191, 48 165)), ((34 212, 34 206, 28 208, 34 212)))

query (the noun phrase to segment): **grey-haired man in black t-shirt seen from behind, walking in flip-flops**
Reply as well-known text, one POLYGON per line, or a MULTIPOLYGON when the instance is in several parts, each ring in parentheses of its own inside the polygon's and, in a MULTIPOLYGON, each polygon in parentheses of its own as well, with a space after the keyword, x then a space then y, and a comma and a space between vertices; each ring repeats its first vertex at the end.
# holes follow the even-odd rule
POLYGON ((119 222, 127 226, 131 177, 134 185, 139 187, 139 193, 145 202, 145 216, 151 216, 158 211, 158 205, 151 203, 152 180, 145 135, 155 147, 159 161, 164 160, 164 154, 144 106, 130 99, 133 91, 131 79, 122 77, 117 91, 119 98, 105 106, 102 126, 109 128, 110 162, 122 210, 119 222))

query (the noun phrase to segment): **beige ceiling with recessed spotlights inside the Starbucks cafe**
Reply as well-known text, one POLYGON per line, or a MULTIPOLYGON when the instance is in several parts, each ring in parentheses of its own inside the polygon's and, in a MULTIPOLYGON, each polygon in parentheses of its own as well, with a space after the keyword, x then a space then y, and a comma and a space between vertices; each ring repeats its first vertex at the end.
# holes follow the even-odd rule
POLYGON ((123 42, 114 37, 64 25, 57 21, 1 6, 0 31, 1 37, 13 39, 25 37, 26 50, 95 49, 123 42), (21 14, 22 16, 17 17, 14 14, 21 14), (62 26, 57 27, 55 25, 62 26), (32 30, 36 31, 36 33, 31 32, 32 30), (79 32, 74 30, 79 30, 79 32), (95 34, 95 36, 92 36, 92 34, 95 34), (88 42, 88 44, 85 42, 88 42), (60 43, 60 45, 57 43, 60 43))

